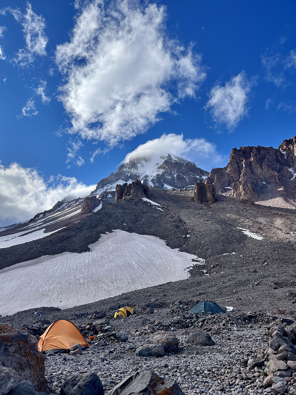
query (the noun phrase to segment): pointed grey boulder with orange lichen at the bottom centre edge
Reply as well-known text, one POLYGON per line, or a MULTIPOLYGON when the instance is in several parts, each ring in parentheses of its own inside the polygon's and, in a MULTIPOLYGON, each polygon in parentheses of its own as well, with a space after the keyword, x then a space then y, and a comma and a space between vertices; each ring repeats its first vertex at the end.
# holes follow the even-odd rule
POLYGON ((162 378, 151 371, 136 372, 122 380, 107 395, 184 395, 175 380, 162 378))

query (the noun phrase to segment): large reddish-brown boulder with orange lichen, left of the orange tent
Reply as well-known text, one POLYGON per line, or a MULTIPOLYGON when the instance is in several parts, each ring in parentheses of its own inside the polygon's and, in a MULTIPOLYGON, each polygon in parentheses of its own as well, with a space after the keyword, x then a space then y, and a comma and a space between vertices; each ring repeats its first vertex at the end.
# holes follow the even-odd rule
POLYGON ((0 323, 0 366, 15 370, 20 381, 30 381, 36 391, 46 391, 44 361, 45 356, 38 351, 35 336, 26 329, 0 323))

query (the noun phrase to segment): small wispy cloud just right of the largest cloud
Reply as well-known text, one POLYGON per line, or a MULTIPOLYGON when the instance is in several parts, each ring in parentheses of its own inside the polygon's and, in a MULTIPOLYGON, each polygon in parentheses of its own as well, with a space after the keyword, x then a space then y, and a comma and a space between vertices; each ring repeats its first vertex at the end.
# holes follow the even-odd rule
POLYGON ((214 121, 226 124, 230 130, 235 128, 247 115, 248 94, 252 85, 242 71, 232 77, 224 87, 216 85, 212 88, 205 108, 210 109, 214 121))

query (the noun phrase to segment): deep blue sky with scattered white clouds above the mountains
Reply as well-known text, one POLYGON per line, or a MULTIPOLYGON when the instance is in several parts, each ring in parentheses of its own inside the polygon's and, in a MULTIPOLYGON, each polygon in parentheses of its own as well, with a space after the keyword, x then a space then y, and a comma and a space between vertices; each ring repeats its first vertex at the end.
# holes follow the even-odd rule
POLYGON ((82 195, 163 134, 207 170, 295 135, 295 14, 293 1, 2 1, 0 224, 82 195))

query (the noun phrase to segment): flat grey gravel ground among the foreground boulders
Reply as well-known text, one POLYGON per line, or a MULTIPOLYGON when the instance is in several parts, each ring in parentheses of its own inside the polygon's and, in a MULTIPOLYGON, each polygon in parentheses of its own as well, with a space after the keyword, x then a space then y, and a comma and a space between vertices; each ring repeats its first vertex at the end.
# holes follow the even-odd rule
MULTIPOLYGON (((168 309, 160 309, 150 315, 150 322, 156 319, 170 320, 172 316, 168 309)), ((180 340, 179 351, 164 357, 136 357, 135 349, 143 343, 152 342, 153 335, 133 336, 129 331, 143 327, 143 315, 134 315, 122 320, 113 320, 115 330, 129 334, 126 342, 107 342, 106 346, 91 346, 82 355, 69 356, 65 354, 46 358, 46 374, 53 384, 53 391, 58 393, 62 382, 69 374, 96 372, 105 390, 111 389, 122 379, 135 371, 151 369, 160 376, 174 378, 186 394, 209 393, 269 393, 270 388, 264 389, 260 373, 254 374, 249 368, 239 365, 245 359, 257 359, 260 349, 265 349, 268 338, 264 328, 258 328, 256 323, 234 324, 234 315, 212 316, 209 320, 228 320, 220 335, 212 335, 214 346, 191 346, 186 343, 188 334, 196 331, 199 324, 185 329, 170 330, 180 340), (232 322, 232 324, 231 324, 232 322), (198 355, 193 353, 198 352, 198 355), (105 360, 104 360, 105 359, 105 360), (249 377, 247 376, 249 374, 249 377), (259 377, 259 380, 257 378, 259 377), (257 382, 256 382, 257 380, 257 382)), ((267 325, 265 325, 267 327, 267 325)), ((171 328, 170 328, 171 329, 171 328)), ((259 369, 260 372, 260 369, 259 369)), ((262 374, 261 374, 262 376, 262 374)))

